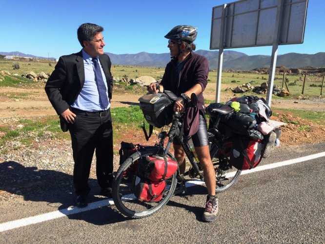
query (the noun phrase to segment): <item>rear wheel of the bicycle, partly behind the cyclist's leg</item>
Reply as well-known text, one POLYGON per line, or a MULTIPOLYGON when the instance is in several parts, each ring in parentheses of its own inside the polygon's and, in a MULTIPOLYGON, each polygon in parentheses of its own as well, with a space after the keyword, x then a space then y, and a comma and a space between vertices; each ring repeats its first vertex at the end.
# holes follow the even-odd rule
MULTIPOLYGON (((226 157, 229 159, 228 154, 231 150, 231 141, 225 141, 223 143, 223 150, 226 153, 226 157)), ((216 193, 223 192, 231 187, 239 178, 242 170, 237 169, 228 164, 228 160, 220 152, 220 148, 216 144, 212 144, 210 147, 210 157, 216 172, 216 193)))

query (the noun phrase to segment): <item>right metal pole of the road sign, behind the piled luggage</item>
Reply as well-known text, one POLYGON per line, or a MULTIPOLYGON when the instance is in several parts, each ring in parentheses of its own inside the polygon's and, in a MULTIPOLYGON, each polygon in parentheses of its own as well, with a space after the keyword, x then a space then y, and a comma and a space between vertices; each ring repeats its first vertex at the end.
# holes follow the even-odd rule
POLYGON ((278 57, 278 46, 279 46, 280 31, 281 31, 283 5, 284 5, 284 0, 278 0, 277 17, 275 20, 274 39, 273 39, 271 64, 270 64, 270 73, 268 76, 268 86, 267 86, 267 93, 266 93, 266 102, 269 107, 271 107, 275 67, 276 67, 277 57, 278 57))

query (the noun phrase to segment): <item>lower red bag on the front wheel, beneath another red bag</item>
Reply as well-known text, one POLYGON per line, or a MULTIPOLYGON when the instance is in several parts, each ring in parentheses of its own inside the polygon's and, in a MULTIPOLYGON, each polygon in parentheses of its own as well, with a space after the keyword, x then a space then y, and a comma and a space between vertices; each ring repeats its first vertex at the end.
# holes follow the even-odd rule
POLYGON ((136 176, 133 180, 132 191, 141 202, 159 202, 163 198, 166 182, 152 182, 136 176))

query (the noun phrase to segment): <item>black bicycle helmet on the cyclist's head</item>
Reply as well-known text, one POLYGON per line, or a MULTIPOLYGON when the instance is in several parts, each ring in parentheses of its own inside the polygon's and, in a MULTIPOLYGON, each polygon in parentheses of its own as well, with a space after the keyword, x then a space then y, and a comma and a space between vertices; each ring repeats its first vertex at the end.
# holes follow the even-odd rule
POLYGON ((198 35, 197 29, 197 27, 191 25, 177 25, 165 35, 165 38, 192 43, 198 35))

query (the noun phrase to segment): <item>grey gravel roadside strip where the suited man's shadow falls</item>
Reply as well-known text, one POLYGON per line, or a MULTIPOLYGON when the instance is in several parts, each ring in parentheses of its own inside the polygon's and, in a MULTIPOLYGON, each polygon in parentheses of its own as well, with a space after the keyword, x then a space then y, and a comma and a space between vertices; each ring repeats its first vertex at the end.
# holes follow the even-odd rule
MULTIPOLYGON (((49 132, 35 142, 34 147, 15 141, 1 146, 0 150, 6 149, 7 153, 0 155, 0 203, 25 205, 25 201, 35 199, 56 203, 62 194, 74 196, 71 142, 53 140, 49 132)), ((92 188, 99 187, 95 159, 94 156, 89 180, 92 188)), ((119 156, 115 155, 115 171, 118 162, 119 156)))

